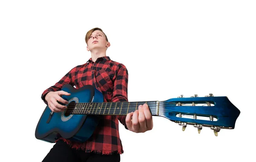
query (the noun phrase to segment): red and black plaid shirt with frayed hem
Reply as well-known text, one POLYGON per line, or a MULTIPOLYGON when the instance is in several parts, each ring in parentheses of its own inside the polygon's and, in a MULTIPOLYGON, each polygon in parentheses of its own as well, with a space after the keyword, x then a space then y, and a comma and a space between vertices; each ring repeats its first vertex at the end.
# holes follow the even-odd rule
MULTIPOLYGON (((107 56, 98 58, 95 63, 90 58, 87 63, 74 67, 55 85, 46 89, 41 98, 47 104, 44 99, 46 94, 49 91, 60 90, 65 84, 75 85, 76 88, 93 85, 102 92, 104 102, 128 101, 128 71, 125 65, 112 61, 107 56)), ((72 148, 80 148, 86 152, 102 154, 117 152, 122 154, 123 148, 119 137, 118 120, 127 129, 125 117, 104 115, 87 142, 79 143, 61 139, 72 145, 72 148)))

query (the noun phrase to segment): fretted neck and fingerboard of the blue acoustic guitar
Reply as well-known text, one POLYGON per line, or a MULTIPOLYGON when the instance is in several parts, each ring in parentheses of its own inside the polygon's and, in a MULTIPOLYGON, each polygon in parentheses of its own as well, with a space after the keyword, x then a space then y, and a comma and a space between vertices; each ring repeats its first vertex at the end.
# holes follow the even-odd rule
POLYGON ((138 109, 139 105, 148 104, 151 114, 158 115, 159 101, 145 102, 87 102, 87 103, 70 103, 67 110, 71 114, 84 115, 127 115, 138 109))

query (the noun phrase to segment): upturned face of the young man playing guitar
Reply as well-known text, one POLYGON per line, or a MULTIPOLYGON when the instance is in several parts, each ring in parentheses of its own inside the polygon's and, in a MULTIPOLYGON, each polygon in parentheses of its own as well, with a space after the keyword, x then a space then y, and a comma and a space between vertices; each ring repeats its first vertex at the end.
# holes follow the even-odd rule
POLYGON ((87 51, 92 51, 93 49, 107 49, 109 43, 106 41, 105 35, 102 31, 96 30, 90 35, 87 41, 87 51))

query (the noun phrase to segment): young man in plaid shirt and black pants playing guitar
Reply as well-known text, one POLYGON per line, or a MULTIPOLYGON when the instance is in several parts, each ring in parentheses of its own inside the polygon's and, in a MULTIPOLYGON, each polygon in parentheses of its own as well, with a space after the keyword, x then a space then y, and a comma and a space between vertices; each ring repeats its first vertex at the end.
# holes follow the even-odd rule
MULTIPOLYGON (((72 68, 55 85, 47 88, 41 98, 53 112, 65 110, 59 104, 68 102, 61 95, 70 95, 61 88, 65 84, 81 88, 93 85, 102 92, 104 102, 128 101, 128 71, 125 65, 106 56, 110 47, 108 38, 101 28, 93 28, 85 36, 87 51, 91 58, 87 63, 72 68), (58 102, 57 102, 58 101, 58 102)), ((153 128, 152 116, 148 105, 139 105, 138 109, 127 116, 102 116, 93 135, 84 143, 60 138, 49 151, 43 162, 119 162, 123 153, 119 137, 120 121, 126 129, 140 133, 153 128)))

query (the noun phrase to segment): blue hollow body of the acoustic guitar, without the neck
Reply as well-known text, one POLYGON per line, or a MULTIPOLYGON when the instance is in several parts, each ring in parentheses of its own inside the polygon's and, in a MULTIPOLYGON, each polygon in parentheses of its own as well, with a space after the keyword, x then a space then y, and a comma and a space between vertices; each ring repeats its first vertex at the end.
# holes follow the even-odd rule
MULTIPOLYGON (((62 96, 69 103, 72 102, 103 102, 103 95, 91 85, 75 89, 71 85, 64 85, 61 89, 70 93, 62 96)), ((46 106, 35 130, 37 139, 54 143, 59 137, 72 141, 85 142, 99 123, 99 117, 88 115, 73 115, 64 112, 52 113, 46 106)))

